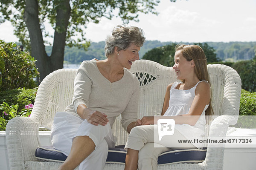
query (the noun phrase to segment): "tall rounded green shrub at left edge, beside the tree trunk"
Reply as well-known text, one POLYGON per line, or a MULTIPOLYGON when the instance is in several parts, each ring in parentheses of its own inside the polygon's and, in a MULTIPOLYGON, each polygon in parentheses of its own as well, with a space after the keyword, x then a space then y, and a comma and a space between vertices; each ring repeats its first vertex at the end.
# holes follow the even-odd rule
POLYGON ((33 78, 39 74, 35 62, 29 52, 22 52, 15 43, 0 40, 0 91, 34 88, 33 78))

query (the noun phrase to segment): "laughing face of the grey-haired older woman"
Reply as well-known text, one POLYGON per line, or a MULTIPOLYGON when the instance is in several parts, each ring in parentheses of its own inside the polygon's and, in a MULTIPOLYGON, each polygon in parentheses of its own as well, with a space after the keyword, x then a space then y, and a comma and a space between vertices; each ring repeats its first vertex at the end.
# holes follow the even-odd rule
POLYGON ((126 69, 131 69, 131 65, 134 61, 139 60, 140 46, 131 44, 127 49, 120 50, 118 60, 126 69))

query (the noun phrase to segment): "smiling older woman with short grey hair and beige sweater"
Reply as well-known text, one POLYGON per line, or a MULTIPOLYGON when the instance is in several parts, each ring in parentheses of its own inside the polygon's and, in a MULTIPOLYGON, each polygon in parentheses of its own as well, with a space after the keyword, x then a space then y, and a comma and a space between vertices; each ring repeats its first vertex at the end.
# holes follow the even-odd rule
POLYGON ((128 71, 139 59, 145 37, 137 27, 116 26, 106 39, 107 59, 84 61, 79 67, 74 96, 52 125, 52 145, 67 155, 60 170, 102 170, 115 138, 111 127, 122 114, 122 126, 130 132, 137 120, 139 83, 128 71))

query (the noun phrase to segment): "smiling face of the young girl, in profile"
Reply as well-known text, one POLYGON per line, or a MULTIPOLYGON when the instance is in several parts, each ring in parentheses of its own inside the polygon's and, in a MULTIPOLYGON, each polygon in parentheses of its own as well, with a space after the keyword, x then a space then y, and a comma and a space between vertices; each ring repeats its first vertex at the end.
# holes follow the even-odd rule
POLYGON ((182 55, 182 50, 175 52, 174 62, 175 64, 172 68, 175 69, 179 80, 185 80, 194 71, 192 69, 194 67, 193 60, 187 61, 182 55))

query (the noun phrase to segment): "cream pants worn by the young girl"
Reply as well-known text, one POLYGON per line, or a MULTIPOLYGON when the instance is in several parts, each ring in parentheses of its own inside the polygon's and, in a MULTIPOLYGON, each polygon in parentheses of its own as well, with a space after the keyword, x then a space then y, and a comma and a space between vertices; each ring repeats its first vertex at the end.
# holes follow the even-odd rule
POLYGON ((173 135, 163 136, 162 140, 159 141, 157 130, 154 131, 154 128, 157 128, 157 125, 137 126, 131 130, 128 136, 125 149, 139 150, 139 170, 157 170, 158 156, 172 148, 195 148, 192 144, 181 146, 177 139, 186 138, 177 130, 173 135))

